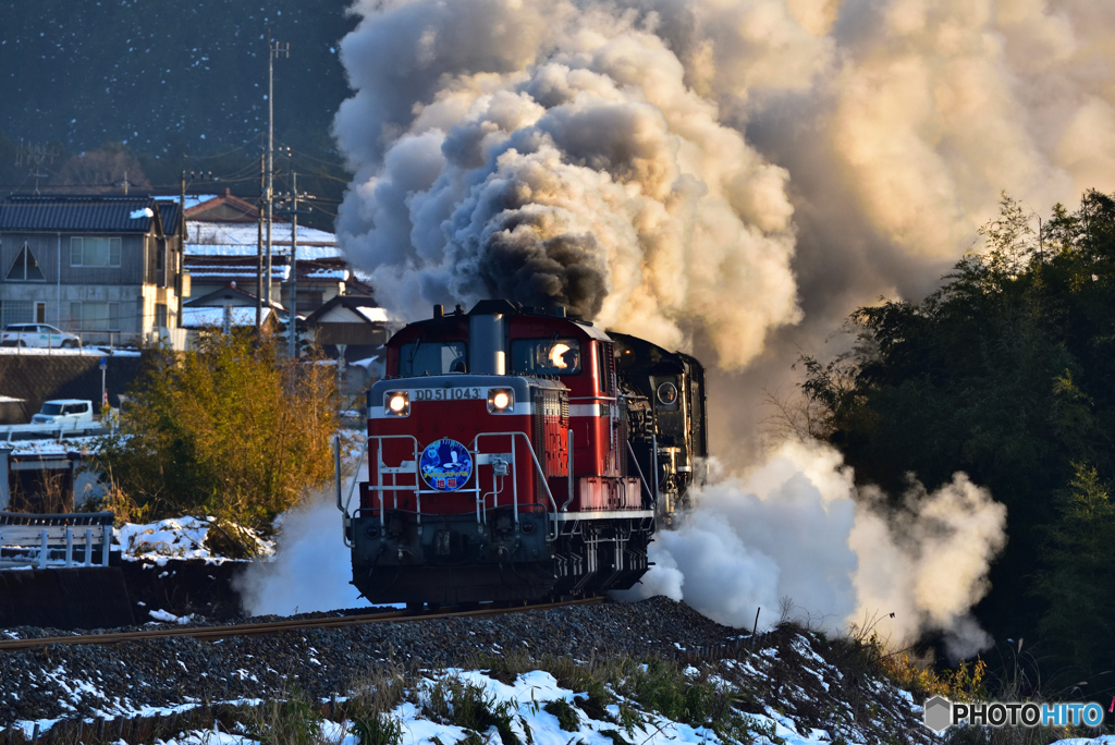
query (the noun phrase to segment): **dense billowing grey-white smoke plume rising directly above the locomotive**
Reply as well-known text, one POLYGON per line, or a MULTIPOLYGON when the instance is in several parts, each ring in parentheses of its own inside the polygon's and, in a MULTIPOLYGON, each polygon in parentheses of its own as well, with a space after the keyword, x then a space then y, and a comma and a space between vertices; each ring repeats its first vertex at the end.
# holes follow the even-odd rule
POLYGON ((342 46, 358 94, 336 132, 357 180, 338 231, 380 302, 563 304, 672 348, 697 329, 730 367, 798 320, 787 174, 687 87, 650 19, 488 0, 365 12, 342 46), (385 43, 405 89, 363 83, 385 43))

